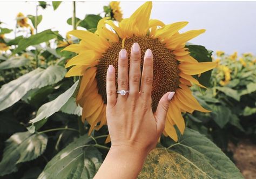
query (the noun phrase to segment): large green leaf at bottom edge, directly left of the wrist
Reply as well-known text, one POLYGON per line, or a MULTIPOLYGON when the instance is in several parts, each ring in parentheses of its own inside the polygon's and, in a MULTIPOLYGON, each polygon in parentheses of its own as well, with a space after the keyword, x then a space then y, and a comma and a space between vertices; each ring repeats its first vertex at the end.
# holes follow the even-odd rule
POLYGON ((87 135, 79 137, 46 164, 41 178, 93 178, 102 163, 102 154, 95 147, 86 147, 87 135))

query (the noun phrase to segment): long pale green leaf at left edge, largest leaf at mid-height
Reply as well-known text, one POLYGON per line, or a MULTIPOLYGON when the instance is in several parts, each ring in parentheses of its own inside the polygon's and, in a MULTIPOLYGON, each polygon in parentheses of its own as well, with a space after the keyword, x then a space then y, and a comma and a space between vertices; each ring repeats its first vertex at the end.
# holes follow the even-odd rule
POLYGON ((37 68, 0 89, 0 111, 20 100, 30 89, 41 88, 62 80, 66 69, 62 66, 49 66, 45 70, 37 68))

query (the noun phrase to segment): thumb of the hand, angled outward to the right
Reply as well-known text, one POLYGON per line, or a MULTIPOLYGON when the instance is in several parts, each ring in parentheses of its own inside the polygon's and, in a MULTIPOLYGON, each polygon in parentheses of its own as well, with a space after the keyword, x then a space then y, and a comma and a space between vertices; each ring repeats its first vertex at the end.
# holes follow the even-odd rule
POLYGON ((157 111, 154 114, 154 116, 156 118, 156 122, 157 122, 158 134, 161 134, 164 130, 166 114, 169 109, 170 101, 174 94, 175 94, 175 92, 165 93, 159 101, 159 104, 157 106, 157 111))

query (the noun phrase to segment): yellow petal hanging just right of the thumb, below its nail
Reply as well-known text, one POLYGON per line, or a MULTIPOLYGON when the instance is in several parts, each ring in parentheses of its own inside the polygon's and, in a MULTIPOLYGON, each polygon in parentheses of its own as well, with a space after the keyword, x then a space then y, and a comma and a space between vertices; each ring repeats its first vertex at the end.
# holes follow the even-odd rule
POLYGON ((185 121, 183 116, 181 115, 180 109, 174 104, 173 101, 170 102, 169 110, 167 112, 168 118, 171 118, 172 121, 177 125, 181 134, 184 133, 185 130, 185 121))

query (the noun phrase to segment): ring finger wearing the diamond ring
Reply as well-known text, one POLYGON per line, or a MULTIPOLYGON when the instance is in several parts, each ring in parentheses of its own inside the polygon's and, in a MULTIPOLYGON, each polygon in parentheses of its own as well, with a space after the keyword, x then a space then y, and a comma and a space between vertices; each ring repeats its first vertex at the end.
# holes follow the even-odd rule
MULTIPOLYGON (((122 49, 119 52, 119 59, 118 59, 118 77, 117 77, 117 84, 118 90, 128 90, 128 60, 127 60, 127 52, 126 50, 122 49)), ((126 95, 118 94, 118 99, 127 99, 126 95)))

